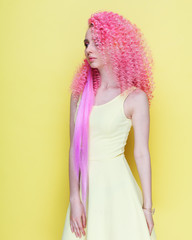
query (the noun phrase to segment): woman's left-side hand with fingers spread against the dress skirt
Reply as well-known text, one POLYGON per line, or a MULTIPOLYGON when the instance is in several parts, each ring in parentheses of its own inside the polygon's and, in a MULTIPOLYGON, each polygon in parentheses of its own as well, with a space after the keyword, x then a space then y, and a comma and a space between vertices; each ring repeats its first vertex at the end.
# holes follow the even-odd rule
POLYGON ((81 234, 85 236, 86 216, 83 204, 80 199, 70 201, 70 226, 72 233, 76 237, 81 238, 81 234))

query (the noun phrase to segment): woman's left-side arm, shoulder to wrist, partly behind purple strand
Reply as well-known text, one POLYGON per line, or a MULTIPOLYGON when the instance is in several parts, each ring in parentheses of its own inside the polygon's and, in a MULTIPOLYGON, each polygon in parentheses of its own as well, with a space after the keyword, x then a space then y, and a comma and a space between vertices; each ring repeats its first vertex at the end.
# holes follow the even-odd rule
POLYGON ((71 95, 70 100, 70 150, 69 150, 69 182, 70 182, 70 202, 72 201, 80 201, 80 186, 79 181, 77 181, 75 176, 75 168, 73 164, 73 148, 72 148, 72 141, 74 135, 74 116, 75 111, 77 109, 77 103, 74 102, 74 99, 71 95))

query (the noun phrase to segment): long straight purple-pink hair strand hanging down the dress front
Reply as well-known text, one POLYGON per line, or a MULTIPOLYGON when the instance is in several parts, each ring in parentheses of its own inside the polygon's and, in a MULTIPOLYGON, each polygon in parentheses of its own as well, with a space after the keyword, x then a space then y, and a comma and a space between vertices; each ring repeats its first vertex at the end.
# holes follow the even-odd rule
POLYGON ((74 165, 79 179, 81 172, 82 201, 86 213, 87 190, 88 190, 88 146, 89 146, 89 114, 94 103, 93 80, 91 67, 88 67, 87 82, 85 84, 74 129, 74 165))

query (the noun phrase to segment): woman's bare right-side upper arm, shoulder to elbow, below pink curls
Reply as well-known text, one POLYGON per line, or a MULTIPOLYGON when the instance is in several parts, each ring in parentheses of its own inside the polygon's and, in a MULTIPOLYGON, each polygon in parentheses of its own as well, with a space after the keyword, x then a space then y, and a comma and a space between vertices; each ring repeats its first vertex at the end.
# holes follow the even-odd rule
POLYGON ((132 124, 134 129, 134 156, 140 157, 148 154, 150 128, 149 102, 146 93, 142 90, 139 90, 134 95, 132 124))

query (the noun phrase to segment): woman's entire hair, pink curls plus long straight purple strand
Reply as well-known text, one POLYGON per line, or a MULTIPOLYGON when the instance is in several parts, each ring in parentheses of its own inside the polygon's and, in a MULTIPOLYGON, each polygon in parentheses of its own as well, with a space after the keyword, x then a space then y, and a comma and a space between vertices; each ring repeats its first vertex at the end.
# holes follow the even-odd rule
MULTIPOLYGON (((140 88, 146 93, 150 106, 154 90, 153 59, 140 29, 119 14, 108 11, 92 14, 88 19, 88 27, 91 28, 92 39, 98 51, 102 53, 105 64, 106 53, 108 54, 121 92, 132 86, 140 88)), ((89 114, 100 85, 99 70, 91 68, 85 58, 70 86, 76 102, 82 95, 76 117, 73 146, 78 179, 79 170, 82 175, 85 212, 88 188, 89 114)))

